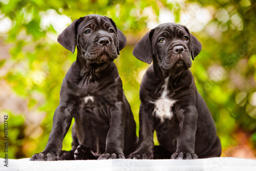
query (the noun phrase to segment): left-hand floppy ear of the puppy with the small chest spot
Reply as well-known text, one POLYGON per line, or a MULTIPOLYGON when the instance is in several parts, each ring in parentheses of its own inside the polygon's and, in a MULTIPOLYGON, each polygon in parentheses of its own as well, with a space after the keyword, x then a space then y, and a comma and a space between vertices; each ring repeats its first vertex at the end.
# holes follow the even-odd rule
POLYGON ((76 49, 76 28, 82 19, 83 17, 75 19, 74 22, 72 22, 71 25, 63 30, 62 33, 58 36, 59 44, 70 50, 72 53, 74 53, 76 49))

